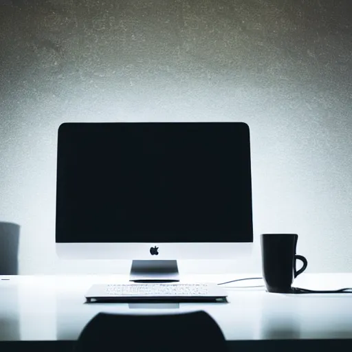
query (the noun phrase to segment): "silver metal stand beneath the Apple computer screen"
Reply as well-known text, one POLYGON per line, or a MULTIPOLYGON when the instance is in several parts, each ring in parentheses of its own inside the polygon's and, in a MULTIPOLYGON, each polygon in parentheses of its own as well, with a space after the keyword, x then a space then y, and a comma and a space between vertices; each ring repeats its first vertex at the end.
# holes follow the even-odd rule
POLYGON ((177 261, 132 261, 129 281, 174 283, 179 281, 177 261))

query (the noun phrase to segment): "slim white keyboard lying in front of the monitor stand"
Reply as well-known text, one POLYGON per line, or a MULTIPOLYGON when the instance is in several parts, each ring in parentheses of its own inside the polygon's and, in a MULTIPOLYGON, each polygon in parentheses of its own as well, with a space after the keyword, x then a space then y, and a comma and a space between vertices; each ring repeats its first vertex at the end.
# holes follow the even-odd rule
POLYGON ((117 300, 218 300, 227 293, 213 283, 129 283, 93 285, 85 298, 91 301, 117 300))

